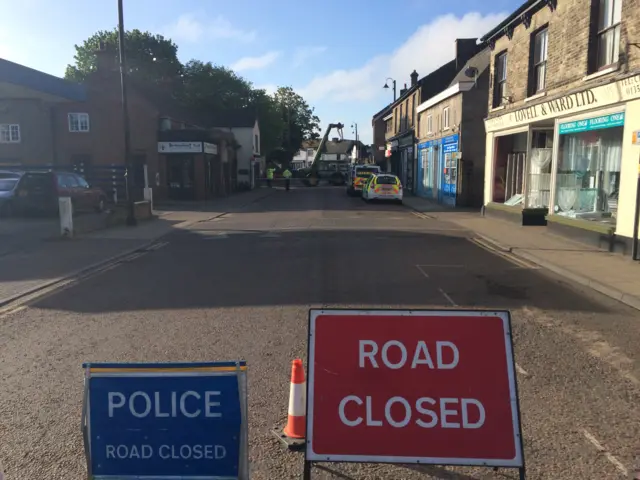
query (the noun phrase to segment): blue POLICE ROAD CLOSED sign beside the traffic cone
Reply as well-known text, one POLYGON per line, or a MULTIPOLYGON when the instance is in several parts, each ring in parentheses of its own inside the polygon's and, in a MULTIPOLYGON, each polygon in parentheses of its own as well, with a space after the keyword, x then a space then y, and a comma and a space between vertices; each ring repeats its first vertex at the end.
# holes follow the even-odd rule
POLYGON ((245 362, 84 368, 90 479, 247 478, 245 362))

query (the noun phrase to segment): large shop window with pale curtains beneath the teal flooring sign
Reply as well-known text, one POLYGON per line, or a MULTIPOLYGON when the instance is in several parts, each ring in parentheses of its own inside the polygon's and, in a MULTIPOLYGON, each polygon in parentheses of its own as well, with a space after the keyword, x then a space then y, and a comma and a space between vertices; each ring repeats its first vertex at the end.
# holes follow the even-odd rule
POLYGON ((615 222, 623 127, 560 136, 554 212, 615 222))

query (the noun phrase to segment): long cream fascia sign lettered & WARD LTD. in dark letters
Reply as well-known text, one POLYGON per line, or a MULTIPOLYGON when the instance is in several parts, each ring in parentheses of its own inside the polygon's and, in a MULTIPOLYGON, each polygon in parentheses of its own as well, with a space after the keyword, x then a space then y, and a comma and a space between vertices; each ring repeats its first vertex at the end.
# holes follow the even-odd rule
POLYGON ((563 97, 547 100, 529 107, 490 118, 485 121, 488 132, 511 128, 519 125, 537 122, 547 118, 580 112, 591 108, 598 108, 620 101, 620 92, 615 83, 601 87, 570 93, 563 97))

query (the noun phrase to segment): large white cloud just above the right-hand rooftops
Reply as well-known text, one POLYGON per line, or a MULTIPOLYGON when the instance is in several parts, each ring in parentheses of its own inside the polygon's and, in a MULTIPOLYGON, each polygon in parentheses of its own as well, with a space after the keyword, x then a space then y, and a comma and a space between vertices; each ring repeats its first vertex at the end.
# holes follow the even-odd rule
POLYGON ((456 38, 481 37, 506 17, 507 13, 481 15, 467 13, 463 17, 444 15, 416 30, 392 53, 371 58, 354 69, 336 70, 315 77, 300 91, 307 101, 367 101, 381 92, 385 78, 397 80, 400 90, 409 82, 415 69, 420 78, 454 58, 456 38))

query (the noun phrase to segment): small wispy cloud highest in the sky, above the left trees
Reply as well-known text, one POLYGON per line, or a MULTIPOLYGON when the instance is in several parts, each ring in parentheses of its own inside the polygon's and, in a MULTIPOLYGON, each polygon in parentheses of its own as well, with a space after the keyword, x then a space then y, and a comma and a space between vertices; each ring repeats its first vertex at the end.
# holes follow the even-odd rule
POLYGON ((178 17, 175 23, 163 29, 167 36, 176 42, 197 43, 204 40, 236 40, 244 43, 253 42, 255 30, 242 30, 222 15, 206 19, 192 13, 178 17))

